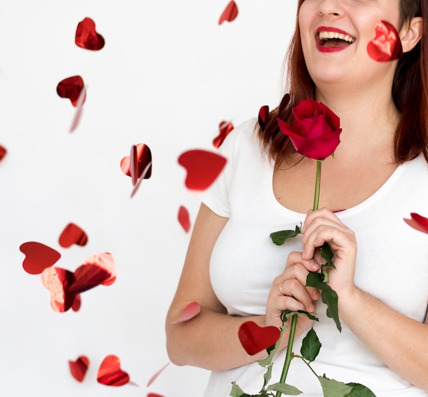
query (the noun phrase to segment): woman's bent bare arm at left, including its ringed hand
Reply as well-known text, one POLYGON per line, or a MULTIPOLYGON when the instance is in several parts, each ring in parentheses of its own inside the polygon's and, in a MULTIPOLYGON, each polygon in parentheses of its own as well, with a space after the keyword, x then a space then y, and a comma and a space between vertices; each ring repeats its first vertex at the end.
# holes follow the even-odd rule
MULTIPOLYGON (((284 276, 281 275, 273 281, 268 301, 268 321, 266 321, 267 316, 245 318, 228 316, 226 309, 215 296, 209 279, 211 252, 227 220, 212 212, 206 205, 201 205, 193 227, 176 295, 166 318, 168 355, 176 365, 198 366, 209 370, 229 370, 265 357, 265 350, 254 356, 248 355, 239 342, 238 330, 243 322, 250 320, 260 326, 266 326, 267 322, 269 322, 268 325, 280 325, 275 313, 280 313, 290 304, 296 305, 295 299, 291 296, 280 294, 280 282, 282 282, 284 291, 289 294, 294 292, 307 305, 313 303, 308 298, 309 295, 304 296, 302 284, 300 283, 296 287, 296 284, 299 283, 295 282, 297 278, 306 281, 308 270, 302 270, 302 266, 313 266, 313 261, 305 261, 302 265, 295 264, 298 260, 293 259, 293 264, 289 264, 288 269, 284 270, 284 276), (191 302, 197 302, 200 305, 201 311, 198 316, 186 322, 172 324, 191 302)), ((298 259, 300 255, 295 254, 294 257, 298 259)), ((227 277, 227 274, 224 274, 224 277, 227 277)), ((317 297, 315 296, 315 298, 317 297)), ((302 330, 300 332, 303 332, 309 325, 310 320, 306 317, 299 319, 298 326, 302 330)), ((282 338, 282 341, 285 342, 282 343, 281 348, 285 347, 286 340, 288 340, 288 334, 282 338)))

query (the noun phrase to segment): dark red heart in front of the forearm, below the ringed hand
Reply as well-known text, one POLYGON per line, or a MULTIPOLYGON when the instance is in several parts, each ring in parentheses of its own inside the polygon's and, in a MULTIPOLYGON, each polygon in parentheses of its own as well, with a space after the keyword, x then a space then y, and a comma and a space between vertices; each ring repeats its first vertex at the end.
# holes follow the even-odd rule
POLYGON ((258 326, 254 321, 244 322, 238 331, 239 341, 249 355, 255 355, 276 344, 280 334, 278 327, 258 326))

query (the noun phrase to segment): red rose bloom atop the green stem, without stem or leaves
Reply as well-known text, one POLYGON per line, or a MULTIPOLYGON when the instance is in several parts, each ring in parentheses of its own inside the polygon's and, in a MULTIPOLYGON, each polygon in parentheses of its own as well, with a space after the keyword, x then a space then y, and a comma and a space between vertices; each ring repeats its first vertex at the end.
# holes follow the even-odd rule
POLYGON ((321 102, 305 99, 293 109, 293 126, 277 118, 282 133, 289 136, 297 153, 323 160, 332 155, 340 139, 340 119, 321 102))

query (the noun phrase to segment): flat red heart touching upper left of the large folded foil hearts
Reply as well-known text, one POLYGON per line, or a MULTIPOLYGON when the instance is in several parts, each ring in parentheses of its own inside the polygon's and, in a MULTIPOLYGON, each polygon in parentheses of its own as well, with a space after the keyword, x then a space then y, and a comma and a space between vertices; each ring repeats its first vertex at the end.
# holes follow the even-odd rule
POLYGON ((25 254, 23 268, 29 274, 40 274, 61 257, 61 254, 53 248, 34 241, 21 244, 19 251, 25 254))

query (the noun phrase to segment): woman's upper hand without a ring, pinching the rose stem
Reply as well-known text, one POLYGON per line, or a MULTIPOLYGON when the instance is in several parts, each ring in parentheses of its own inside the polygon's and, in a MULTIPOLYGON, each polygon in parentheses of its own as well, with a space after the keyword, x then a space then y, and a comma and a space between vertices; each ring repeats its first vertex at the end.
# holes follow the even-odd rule
POLYGON ((308 212, 302 231, 303 259, 309 260, 314 257, 316 248, 327 242, 334 253, 333 263, 336 267, 327 270, 328 285, 338 296, 343 292, 351 292, 355 288, 353 275, 357 255, 357 242, 353 231, 326 208, 308 212))

